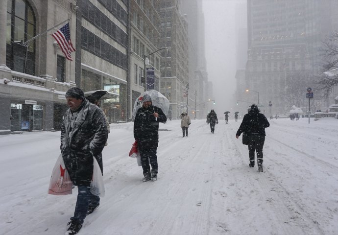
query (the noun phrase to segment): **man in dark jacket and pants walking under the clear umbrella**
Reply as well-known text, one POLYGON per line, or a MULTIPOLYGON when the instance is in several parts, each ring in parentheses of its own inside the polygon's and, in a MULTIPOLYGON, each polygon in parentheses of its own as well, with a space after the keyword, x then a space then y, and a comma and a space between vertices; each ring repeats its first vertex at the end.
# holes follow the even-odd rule
POLYGON ((141 155, 144 179, 157 180, 157 146, 158 146, 158 127, 160 122, 166 122, 167 117, 163 111, 152 105, 151 97, 147 94, 143 96, 143 105, 138 109, 134 120, 134 138, 137 141, 141 155), (150 166, 151 165, 151 171, 150 166))

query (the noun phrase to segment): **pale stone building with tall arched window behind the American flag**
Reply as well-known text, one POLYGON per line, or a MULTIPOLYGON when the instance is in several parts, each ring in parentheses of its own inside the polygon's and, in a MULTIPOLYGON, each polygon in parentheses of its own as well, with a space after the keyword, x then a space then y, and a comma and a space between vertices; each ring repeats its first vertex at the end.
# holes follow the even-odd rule
POLYGON ((65 92, 75 86, 76 52, 72 61, 66 59, 50 34, 69 23, 75 43, 75 5, 75 0, 1 2, 0 28, 7 33, 0 34, 0 134, 60 128, 65 92))

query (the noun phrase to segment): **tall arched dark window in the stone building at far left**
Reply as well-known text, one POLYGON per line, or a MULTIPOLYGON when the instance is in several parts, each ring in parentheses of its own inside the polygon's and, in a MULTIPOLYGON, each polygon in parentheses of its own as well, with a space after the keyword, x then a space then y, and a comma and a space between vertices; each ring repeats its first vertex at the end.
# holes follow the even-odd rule
POLYGON ((27 0, 7 0, 6 65, 13 71, 35 75, 35 14, 27 0))

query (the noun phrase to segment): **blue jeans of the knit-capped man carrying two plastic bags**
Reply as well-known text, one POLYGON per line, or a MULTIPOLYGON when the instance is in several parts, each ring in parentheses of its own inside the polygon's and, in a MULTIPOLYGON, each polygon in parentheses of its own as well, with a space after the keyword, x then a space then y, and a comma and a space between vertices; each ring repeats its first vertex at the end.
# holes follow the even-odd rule
POLYGON ((93 195, 90 192, 90 187, 77 186, 77 188, 78 194, 74 211, 74 217, 72 217, 71 220, 83 224, 83 220, 87 216, 88 206, 89 205, 97 206, 100 203, 100 197, 93 195))

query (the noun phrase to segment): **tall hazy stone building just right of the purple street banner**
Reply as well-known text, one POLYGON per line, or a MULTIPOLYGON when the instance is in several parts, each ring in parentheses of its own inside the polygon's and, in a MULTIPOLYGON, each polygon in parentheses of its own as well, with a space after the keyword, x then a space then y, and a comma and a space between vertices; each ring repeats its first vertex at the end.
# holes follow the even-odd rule
POLYGON ((171 117, 176 119, 187 109, 186 90, 189 87, 188 23, 181 14, 180 1, 160 2, 161 88, 170 101, 171 117))

